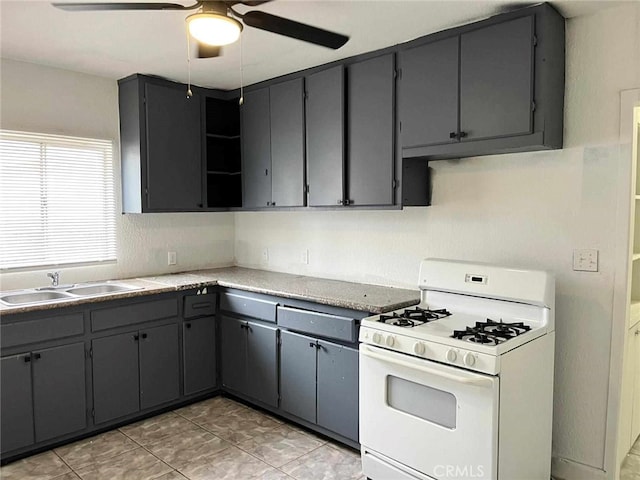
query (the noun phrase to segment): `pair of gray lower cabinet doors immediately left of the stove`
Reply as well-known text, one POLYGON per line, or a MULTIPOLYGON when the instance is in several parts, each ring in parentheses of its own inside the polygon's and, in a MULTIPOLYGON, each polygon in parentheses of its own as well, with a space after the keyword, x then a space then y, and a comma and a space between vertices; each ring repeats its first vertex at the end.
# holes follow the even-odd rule
POLYGON ((280 332, 280 408, 358 441, 358 350, 280 332))

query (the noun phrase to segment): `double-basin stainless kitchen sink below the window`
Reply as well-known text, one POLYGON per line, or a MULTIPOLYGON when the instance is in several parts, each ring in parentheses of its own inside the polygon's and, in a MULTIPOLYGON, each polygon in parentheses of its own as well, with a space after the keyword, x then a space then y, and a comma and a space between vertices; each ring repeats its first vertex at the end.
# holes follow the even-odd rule
POLYGON ((58 287, 40 287, 0 295, 0 303, 8 306, 31 305, 38 303, 54 303, 62 300, 98 297, 110 293, 141 290, 126 283, 86 283, 77 285, 60 285, 58 287))

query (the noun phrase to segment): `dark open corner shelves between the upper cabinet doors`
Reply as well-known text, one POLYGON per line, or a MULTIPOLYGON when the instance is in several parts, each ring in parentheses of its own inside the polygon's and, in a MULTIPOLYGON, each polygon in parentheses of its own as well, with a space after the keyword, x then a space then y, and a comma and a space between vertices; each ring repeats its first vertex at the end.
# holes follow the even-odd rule
POLYGON ((208 208, 242 206, 240 108, 238 100, 205 100, 208 208))

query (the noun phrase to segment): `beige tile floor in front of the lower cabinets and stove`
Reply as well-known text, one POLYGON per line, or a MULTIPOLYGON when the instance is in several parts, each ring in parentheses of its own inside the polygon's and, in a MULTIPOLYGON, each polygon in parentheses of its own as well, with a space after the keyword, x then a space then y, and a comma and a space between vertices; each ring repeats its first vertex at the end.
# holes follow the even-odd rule
POLYGON ((362 480, 360 455, 216 397, 0 468, 3 480, 362 480))

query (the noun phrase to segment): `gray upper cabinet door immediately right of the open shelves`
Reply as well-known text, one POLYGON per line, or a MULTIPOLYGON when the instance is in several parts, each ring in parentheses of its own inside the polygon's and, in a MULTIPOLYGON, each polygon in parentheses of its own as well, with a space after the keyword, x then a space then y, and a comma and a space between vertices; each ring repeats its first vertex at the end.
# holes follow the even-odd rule
POLYGON ((240 109, 242 123, 242 206, 271 205, 271 132, 269 89, 247 92, 240 109))

